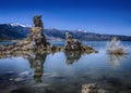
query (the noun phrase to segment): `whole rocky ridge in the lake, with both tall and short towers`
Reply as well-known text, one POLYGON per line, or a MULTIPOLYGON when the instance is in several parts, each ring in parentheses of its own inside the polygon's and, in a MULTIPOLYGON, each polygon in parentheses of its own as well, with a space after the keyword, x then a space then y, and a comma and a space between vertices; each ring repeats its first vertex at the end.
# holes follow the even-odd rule
POLYGON ((97 52, 92 46, 86 46, 82 44, 79 40, 74 39, 69 32, 66 34, 66 44, 64 46, 50 45, 47 42, 44 35, 44 24, 41 21, 41 15, 36 15, 33 18, 34 26, 31 28, 31 32, 27 38, 20 40, 13 44, 0 45, 0 55, 11 54, 19 51, 83 51, 87 53, 97 52))

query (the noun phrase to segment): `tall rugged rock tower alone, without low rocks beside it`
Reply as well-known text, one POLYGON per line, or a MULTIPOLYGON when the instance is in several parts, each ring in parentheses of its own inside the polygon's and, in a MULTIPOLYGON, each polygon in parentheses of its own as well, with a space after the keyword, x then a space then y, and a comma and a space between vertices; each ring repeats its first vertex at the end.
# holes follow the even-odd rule
POLYGON ((25 45, 28 49, 38 49, 46 48, 47 40, 44 35, 44 26, 41 22, 41 15, 36 15, 33 18, 34 27, 31 28, 28 37, 21 42, 22 45, 25 45))

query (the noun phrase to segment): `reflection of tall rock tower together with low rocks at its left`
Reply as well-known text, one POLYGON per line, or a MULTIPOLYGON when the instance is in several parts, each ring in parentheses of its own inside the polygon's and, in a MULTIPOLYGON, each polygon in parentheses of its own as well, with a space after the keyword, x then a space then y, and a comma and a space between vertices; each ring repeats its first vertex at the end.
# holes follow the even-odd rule
POLYGON ((34 80, 35 82, 41 82, 41 77, 44 75, 44 63, 49 53, 47 52, 17 52, 14 54, 7 54, 4 56, 0 56, 0 58, 9 58, 9 57, 19 57, 22 56, 26 61, 28 61, 31 68, 34 69, 34 80))

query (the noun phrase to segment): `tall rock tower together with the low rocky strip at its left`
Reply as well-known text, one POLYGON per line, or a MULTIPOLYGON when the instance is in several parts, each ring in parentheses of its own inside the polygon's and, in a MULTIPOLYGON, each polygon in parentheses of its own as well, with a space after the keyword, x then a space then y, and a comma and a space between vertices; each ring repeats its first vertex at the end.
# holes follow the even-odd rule
POLYGON ((36 15, 33 18, 34 27, 31 28, 28 37, 24 40, 13 43, 12 45, 0 45, 0 51, 27 51, 46 49, 49 43, 44 35, 44 26, 41 22, 41 15, 36 15))

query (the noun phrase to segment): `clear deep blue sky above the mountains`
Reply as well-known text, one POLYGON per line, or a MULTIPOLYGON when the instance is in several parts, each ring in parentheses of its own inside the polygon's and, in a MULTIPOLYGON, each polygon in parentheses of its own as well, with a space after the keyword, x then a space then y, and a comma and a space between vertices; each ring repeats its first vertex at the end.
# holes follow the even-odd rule
POLYGON ((0 24, 32 25, 43 15, 45 28, 84 29, 131 36, 131 0, 0 0, 0 24))

